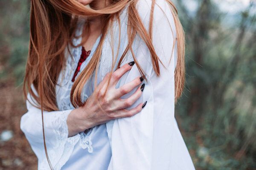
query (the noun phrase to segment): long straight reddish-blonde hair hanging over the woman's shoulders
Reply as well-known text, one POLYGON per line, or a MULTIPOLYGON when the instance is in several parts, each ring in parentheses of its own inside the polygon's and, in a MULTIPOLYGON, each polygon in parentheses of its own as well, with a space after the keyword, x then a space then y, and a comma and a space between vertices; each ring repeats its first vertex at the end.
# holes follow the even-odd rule
MULTIPOLYGON (((96 71, 95 79, 97 79, 97 70, 105 36, 108 30, 112 30, 113 21, 119 21, 119 13, 126 6, 128 7, 128 45, 119 61, 116 61, 117 57, 113 56, 111 71, 114 69, 114 63, 118 62, 117 67, 119 67, 122 63, 122 59, 124 59, 128 51, 130 51, 141 75, 145 77, 144 71, 137 62, 132 49, 135 35, 139 35, 150 51, 154 72, 157 76, 160 76, 159 64, 162 64, 162 62, 159 57, 157 57, 152 43, 153 11, 154 6, 156 5, 156 0, 152 0, 149 31, 143 26, 142 20, 137 12, 137 1, 138 0, 111 0, 109 6, 95 10, 84 6, 77 0, 31 0, 29 55, 26 63, 23 91, 25 97, 27 97, 27 94, 29 93, 32 98, 35 99, 38 103, 35 107, 40 108, 42 111, 43 134, 43 111, 58 110, 55 85, 66 62, 64 51, 69 44, 72 45, 72 38, 75 37, 78 17, 88 18, 101 16, 105 23, 102 28, 102 37, 92 59, 81 74, 79 74, 71 89, 70 101, 75 108, 84 105, 84 102, 81 99, 84 84, 92 76, 93 71, 96 71), (32 91, 32 85, 38 95, 32 91)), ((185 82, 185 36, 174 4, 171 0, 166 0, 166 2, 171 8, 177 32, 177 65, 175 68, 176 103, 177 99, 182 94, 185 82)), ((173 44, 175 45, 175 43, 173 44)), ((170 48, 174 49, 174 46, 170 48)), ((47 154, 45 136, 44 147, 49 166, 53 169, 47 154)))

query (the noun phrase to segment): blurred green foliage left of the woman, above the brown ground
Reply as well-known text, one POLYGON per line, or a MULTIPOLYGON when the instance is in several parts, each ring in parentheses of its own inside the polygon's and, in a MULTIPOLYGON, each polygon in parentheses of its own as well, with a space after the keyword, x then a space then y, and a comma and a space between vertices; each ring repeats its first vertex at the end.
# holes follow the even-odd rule
POLYGON ((29 47, 29 0, 0 1, 0 79, 23 82, 29 47))

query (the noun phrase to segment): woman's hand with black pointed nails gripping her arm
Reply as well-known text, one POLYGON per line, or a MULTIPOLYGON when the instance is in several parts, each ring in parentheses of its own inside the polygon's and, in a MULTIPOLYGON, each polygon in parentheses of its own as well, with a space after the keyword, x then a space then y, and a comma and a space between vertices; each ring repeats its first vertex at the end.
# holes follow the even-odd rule
POLYGON ((95 91, 87 99, 84 106, 71 111, 67 118, 67 125, 69 137, 74 136, 90 127, 106 123, 112 119, 131 117, 139 113, 145 106, 145 103, 140 103, 136 108, 127 110, 129 106, 133 105, 142 94, 144 84, 140 85, 144 78, 137 77, 133 81, 116 89, 116 83, 127 71, 131 69, 134 62, 129 62, 121 68, 114 71, 112 74, 108 73, 96 87, 95 91), (111 76, 108 90, 108 78, 111 76), (120 99, 121 96, 129 93, 131 90, 137 88, 137 91, 127 99, 120 99), (106 91, 106 94, 105 94, 106 91), (105 95, 104 95, 105 94, 105 95), (98 99, 98 102, 96 101, 98 99))

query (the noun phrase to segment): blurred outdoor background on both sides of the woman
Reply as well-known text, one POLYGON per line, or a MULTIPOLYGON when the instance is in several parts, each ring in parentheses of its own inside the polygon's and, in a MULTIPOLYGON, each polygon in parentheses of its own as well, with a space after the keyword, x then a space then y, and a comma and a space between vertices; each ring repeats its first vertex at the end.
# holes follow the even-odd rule
MULTIPOLYGON (((256 170, 256 1, 175 0, 186 87, 175 117, 197 170, 256 170)), ((0 0, 0 170, 35 170, 20 130, 29 0, 0 0)))

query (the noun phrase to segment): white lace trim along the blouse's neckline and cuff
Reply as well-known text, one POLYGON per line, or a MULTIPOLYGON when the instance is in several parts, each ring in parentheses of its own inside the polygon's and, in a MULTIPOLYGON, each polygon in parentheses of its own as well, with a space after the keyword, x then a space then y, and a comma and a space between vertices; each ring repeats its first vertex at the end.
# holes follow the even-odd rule
MULTIPOLYGON (((78 29, 76 31, 77 35, 80 35, 82 33, 82 25, 79 26, 80 29, 78 29)), ((96 41, 92 51, 83 51, 82 46, 79 46, 77 48, 71 48, 71 55, 67 55, 67 62, 66 65, 64 67, 64 72, 61 72, 61 74, 63 74, 63 77, 59 77, 58 79, 58 85, 60 85, 60 87, 58 87, 58 92, 56 94, 56 98, 57 98, 57 104, 58 104, 58 108, 59 110, 69 110, 69 109, 74 109, 73 105, 70 102, 70 91, 73 85, 72 79, 73 77, 77 77, 79 74, 79 71, 77 71, 77 67, 79 66, 79 70, 83 69, 84 65, 87 65, 87 62, 90 61, 90 58, 92 57, 97 42, 99 40, 96 41), (85 52, 85 53, 84 53, 85 52), (85 54, 85 55, 84 55, 85 54), (82 63, 80 63, 80 65, 78 65, 79 61, 82 58, 82 62, 84 62, 85 64, 82 65, 82 63)), ((74 45, 78 45, 81 42, 81 37, 79 37, 78 39, 73 39, 73 44, 74 45)), ((88 96, 90 95, 92 91, 90 90, 85 90, 83 92, 83 101, 86 101, 88 96)), ((61 115, 58 116, 58 118, 53 122, 56 125, 58 125, 57 129, 55 130, 55 132, 57 133, 58 136, 58 140, 60 141, 65 141, 66 140, 66 144, 65 145, 70 145, 69 149, 66 148, 66 150, 73 150, 73 147, 77 144, 77 142, 79 142, 79 146, 83 149, 88 148, 88 152, 92 153, 93 152, 93 147, 92 147, 92 142, 91 142, 91 136, 93 135, 94 131, 96 130, 96 127, 92 127, 89 128, 87 130, 85 130, 84 132, 81 132, 79 134, 76 134, 75 136, 72 137, 68 137, 68 127, 67 127, 67 116, 66 115, 61 115), (71 149, 72 148, 72 149, 71 149)), ((53 126, 54 127, 54 126, 53 126)), ((71 155, 70 153, 70 155, 71 155)), ((67 154, 68 155, 68 154, 67 154)), ((65 156, 66 157, 66 156, 65 156)), ((67 156, 68 159, 69 156, 67 156)), ((65 158, 66 159, 66 158, 65 158)), ((65 159, 61 159, 63 162, 65 159)), ((59 162, 58 165, 60 165, 61 163, 59 162)))

